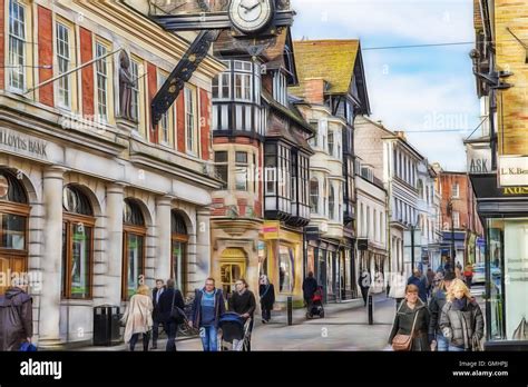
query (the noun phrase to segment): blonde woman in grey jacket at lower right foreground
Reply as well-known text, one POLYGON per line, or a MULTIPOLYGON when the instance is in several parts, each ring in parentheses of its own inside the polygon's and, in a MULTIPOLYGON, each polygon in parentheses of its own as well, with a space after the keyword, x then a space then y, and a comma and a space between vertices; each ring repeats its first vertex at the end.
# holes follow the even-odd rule
POLYGON ((483 337, 483 316, 466 284, 454 279, 447 292, 440 315, 440 329, 449 340, 449 351, 480 349, 483 337))

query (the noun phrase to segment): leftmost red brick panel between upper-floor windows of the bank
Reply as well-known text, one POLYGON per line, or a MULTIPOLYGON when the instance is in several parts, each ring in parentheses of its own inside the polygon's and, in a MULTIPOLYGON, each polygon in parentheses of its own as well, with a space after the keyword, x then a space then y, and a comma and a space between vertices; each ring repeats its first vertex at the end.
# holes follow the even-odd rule
MULTIPOLYGON (((53 22, 51 10, 38 6, 39 19, 39 79, 38 82, 43 82, 53 77, 53 70, 45 69, 43 66, 53 64, 53 22)), ((53 106, 53 83, 42 86, 39 89, 39 101, 43 105, 53 106)))

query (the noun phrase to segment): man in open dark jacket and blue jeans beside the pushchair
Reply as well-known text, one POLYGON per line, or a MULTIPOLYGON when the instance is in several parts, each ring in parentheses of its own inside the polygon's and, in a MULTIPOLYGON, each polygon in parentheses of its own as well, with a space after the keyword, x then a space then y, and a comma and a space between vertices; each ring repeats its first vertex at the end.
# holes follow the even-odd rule
POLYGON ((218 350, 218 321, 225 314, 225 301, 222 289, 215 288, 215 279, 207 278, 203 289, 195 290, 193 301, 193 320, 190 326, 199 329, 204 351, 218 350))

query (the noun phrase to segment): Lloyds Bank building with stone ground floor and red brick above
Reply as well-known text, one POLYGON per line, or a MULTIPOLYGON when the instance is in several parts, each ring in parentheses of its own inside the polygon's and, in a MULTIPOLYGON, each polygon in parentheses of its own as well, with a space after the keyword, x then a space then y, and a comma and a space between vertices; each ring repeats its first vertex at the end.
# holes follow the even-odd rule
POLYGON ((94 307, 124 307, 140 276, 189 291, 209 275, 211 85, 224 66, 208 56, 153 128, 149 102, 187 40, 124 2, 2 0, 0 16, 0 267, 30 275, 40 348, 88 344, 94 307))

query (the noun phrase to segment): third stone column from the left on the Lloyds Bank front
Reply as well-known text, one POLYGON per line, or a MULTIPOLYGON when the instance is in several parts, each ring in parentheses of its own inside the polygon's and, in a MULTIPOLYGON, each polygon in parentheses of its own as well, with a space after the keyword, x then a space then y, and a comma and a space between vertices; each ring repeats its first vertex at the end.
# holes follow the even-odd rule
MULTIPOLYGON (((170 201, 169 197, 156 200, 156 236, 157 248, 154 264, 154 277, 166 281, 172 278, 170 268, 170 201)), ((184 284, 178 284, 179 288, 184 284)))

